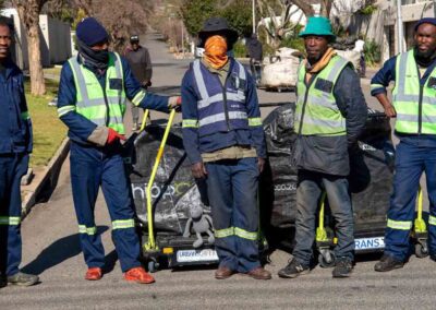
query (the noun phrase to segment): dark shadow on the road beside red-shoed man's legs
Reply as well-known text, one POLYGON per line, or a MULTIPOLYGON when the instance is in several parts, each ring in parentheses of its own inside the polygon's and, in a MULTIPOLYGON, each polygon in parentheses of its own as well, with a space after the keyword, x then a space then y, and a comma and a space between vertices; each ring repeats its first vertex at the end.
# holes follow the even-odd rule
MULTIPOLYGON (((101 235, 108 229, 109 229, 108 226, 98 226, 97 234, 101 235)), ((25 265, 22 269, 22 271, 25 273, 39 275, 46 270, 49 270, 62 263, 63 261, 80 254, 81 252, 82 249, 81 249, 81 243, 78 241, 78 234, 70 235, 55 241, 53 243, 45 248, 39 253, 39 255, 34 261, 25 265)), ((108 254, 107 258, 110 255, 111 253, 108 254)))

